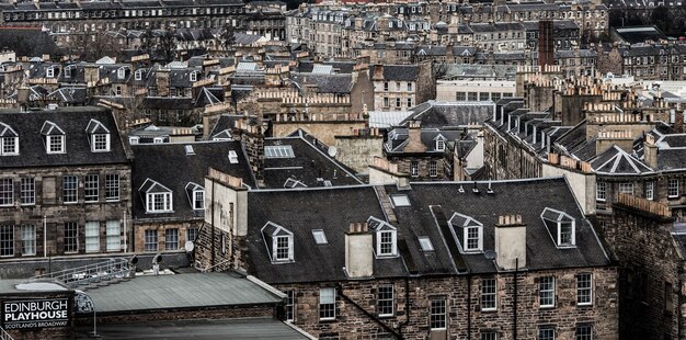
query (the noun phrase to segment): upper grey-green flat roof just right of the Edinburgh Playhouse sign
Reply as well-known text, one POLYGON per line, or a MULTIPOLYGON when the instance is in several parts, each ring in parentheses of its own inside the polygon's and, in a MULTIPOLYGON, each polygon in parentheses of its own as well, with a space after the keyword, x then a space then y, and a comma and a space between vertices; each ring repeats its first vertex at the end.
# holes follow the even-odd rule
POLYGON ((277 304, 282 297, 236 272, 138 275, 85 294, 98 313, 277 304))

